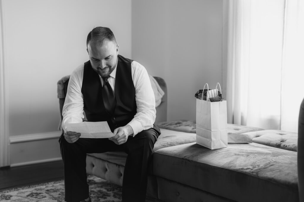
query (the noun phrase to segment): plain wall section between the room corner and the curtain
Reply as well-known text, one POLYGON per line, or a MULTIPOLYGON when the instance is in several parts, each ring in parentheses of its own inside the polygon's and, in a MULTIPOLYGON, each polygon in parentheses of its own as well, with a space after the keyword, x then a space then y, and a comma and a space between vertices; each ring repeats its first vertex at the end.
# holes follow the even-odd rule
POLYGON ((195 92, 222 78, 222 0, 132 1, 132 58, 168 86, 168 120, 195 120, 195 92))

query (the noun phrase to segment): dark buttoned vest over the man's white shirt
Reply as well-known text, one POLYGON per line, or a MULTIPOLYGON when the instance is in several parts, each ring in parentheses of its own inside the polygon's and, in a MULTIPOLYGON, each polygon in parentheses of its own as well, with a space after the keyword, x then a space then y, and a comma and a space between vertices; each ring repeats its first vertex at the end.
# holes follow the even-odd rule
POLYGON ((88 121, 107 121, 111 131, 128 124, 136 114, 135 87, 131 74, 133 60, 118 55, 115 76, 116 107, 114 114, 105 111, 102 100, 102 84, 100 77, 91 66, 85 62, 81 93, 83 94, 84 111, 88 121))

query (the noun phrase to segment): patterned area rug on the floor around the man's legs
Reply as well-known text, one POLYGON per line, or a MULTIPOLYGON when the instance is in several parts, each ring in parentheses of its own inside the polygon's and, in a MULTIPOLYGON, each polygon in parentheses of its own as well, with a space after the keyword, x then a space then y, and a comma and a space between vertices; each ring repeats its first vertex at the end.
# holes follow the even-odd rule
MULTIPOLYGON (((122 187, 112 184, 99 177, 88 175, 88 185, 92 202, 97 201, 121 201, 122 187)), ((36 185, 29 185, 19 188, 12 188, 0 191, 0 201, 5 202, 63 202, 64 201, 64 180, 57 180, 36 185)), ((146 197, 147 202, 157 201, 146 197)))

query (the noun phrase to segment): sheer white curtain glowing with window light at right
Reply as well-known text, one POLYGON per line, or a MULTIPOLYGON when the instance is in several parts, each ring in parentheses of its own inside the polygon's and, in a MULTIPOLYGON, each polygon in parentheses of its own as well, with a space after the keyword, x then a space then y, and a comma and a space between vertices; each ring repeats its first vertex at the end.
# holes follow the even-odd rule
POLYGON ((228 122, 298 130, 304 0, 229 0, 228 122))

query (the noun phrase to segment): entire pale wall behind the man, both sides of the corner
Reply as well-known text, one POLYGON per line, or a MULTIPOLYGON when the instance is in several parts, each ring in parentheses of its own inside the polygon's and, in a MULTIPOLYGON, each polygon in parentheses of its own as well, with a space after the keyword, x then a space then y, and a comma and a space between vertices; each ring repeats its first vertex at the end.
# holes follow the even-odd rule
POLYGON ((195 92, 223 83, 222 0, 0 1, 15 165, 60 158, 57 141, 44 141, 60 134, 57 81, 88 60, 86 37, 96 26, 110 27, 121 55, 166 80, 168 120, 195 119, 195 92), (32 158, 41 148, 52 155, 32 158))

